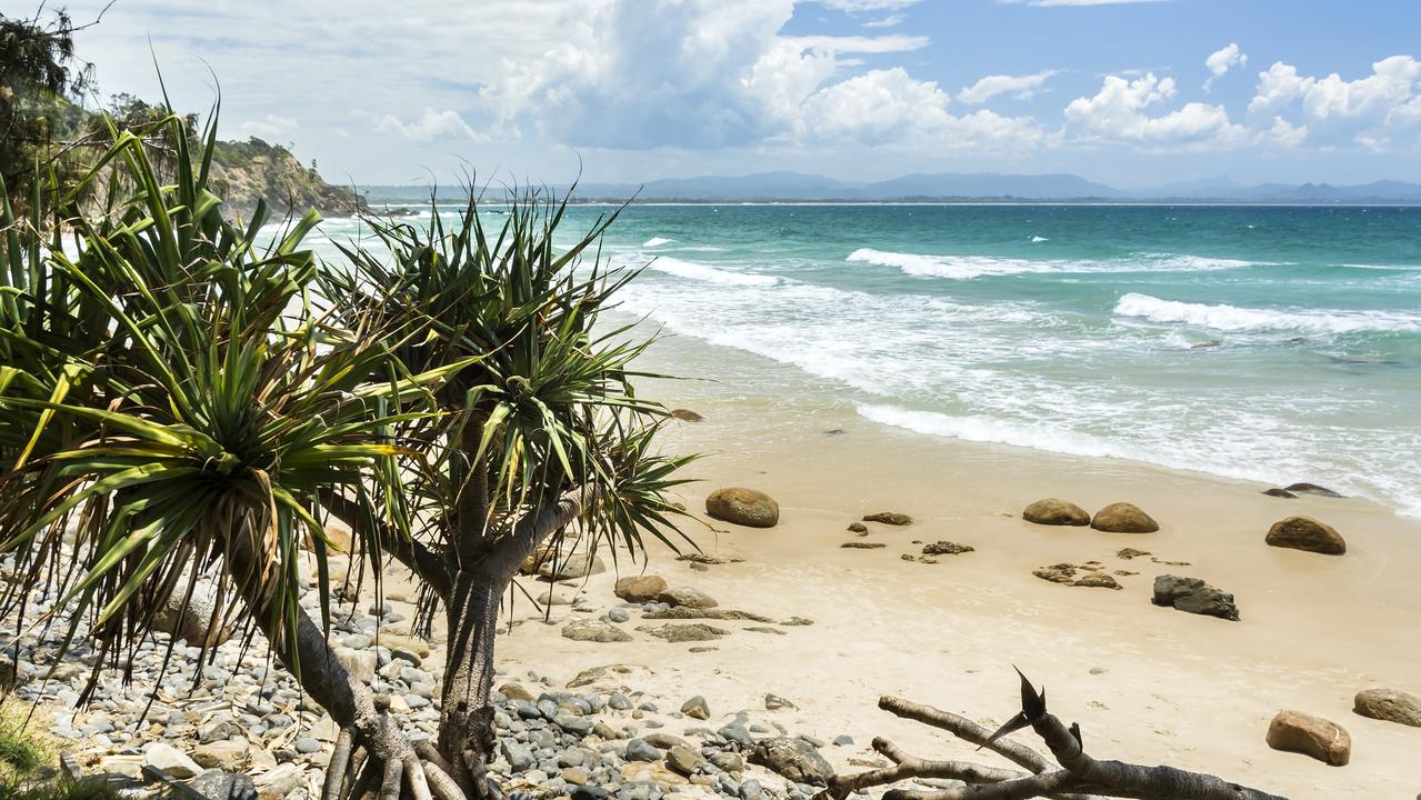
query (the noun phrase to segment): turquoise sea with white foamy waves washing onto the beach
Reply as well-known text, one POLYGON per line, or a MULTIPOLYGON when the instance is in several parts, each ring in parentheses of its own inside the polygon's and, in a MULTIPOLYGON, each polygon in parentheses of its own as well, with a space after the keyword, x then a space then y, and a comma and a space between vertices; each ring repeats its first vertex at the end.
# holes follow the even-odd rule
POLYGON ((1421 209, 635 206, 604 256, 875 422, 1421 514, 1421 209))

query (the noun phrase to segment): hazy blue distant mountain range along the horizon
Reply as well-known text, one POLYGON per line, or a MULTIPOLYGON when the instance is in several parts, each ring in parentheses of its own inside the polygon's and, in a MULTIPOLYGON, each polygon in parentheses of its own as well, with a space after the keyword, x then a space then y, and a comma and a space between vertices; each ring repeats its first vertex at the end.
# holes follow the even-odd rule
MULTIPOLYGON (((429 199, 426 186, 360 186, 371 203, 411 203, 429 199)), ((456 195, 441 189, 441 196, 456 195)), ((551 186, 566 192, 567 186, 551 186)), ((1259 183, 1245 186, 1226 176, 1127 190, 1079 175, 936 173, 904 175, 891 180, 837 180, 803 172, 762 172, 742 176, 662 178, 637 183, 580 183, 581 200, 689 202, 890 202, 890 200, 1056 200, 1056 202, 1239 202, 1239 203, 1404 203, 1421 205, 1421 183, 1376 180, 1358 186, 1331 183, 1259 183)))

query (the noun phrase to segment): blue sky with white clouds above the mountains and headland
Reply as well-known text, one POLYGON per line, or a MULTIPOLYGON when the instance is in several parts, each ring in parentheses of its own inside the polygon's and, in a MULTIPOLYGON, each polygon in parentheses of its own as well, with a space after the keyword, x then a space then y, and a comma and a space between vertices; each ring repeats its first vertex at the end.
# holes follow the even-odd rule
POLYGON ((77 45, 337 182, 1421 182, 1421 0, 117 0, 77 45))

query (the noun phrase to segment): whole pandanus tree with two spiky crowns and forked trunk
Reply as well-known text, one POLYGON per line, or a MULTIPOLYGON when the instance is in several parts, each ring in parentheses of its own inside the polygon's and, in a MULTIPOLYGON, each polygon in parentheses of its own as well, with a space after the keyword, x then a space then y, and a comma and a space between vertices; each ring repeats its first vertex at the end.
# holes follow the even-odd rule
POLYGON ((328 266, 303 247, 314 213, 274 239, 263 207, 223 217, 213 128, 161 125, 173 183, 115 129, 88 180, 125 196, 85 216, 75 192, 36 193, 27 220, 0 220, 0 557, 17 575, 0 610, 57 595, 38 617, 91 631, 92 688, 210 581, 209 631, 260 632, 341 726, 328 799, 495 793, 493 641, 519 564, 553 536, 635 553, 675 530, 684 459, 657 453, 664 411, 631 385, 645 342, 594 330, 625 280, 584 263, 607 223, 556 247, 564 206, 534 195, 490 234, 470 195, 448 229, 371 220, 371 247, 328 266), (406 739, 327 644, 328 516, 448 624, 435 742, 406 739), (320 620, 298 602, 303 548, 320 620))

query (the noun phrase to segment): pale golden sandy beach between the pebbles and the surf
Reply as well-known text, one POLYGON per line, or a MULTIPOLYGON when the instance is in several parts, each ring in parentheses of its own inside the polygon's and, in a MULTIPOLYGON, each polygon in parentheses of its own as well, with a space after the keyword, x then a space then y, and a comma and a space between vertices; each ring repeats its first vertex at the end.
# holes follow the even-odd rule
MULTIPOLYGON (((710 381, 671 384, 678 394, 657 387, 674 405, 705 416, 676 422, 666 442, 708 453, 691 469, 702 480, 685 492, 705 526, 685 530, 705 554, 743 561, 696 571, 657 546, 645 571, 672 587, 703 590, 722 608, 807 617, 814 625, 770 635, 743 631, 753 627, 747 622, 715 622, 735 632, 708 642, 716 649, 706 652, 644 634, 625 644, 561 638, 568 620, 618 602, 611 587, 618 574, 642 571, 621 554, 615 568, 563 584, 558 594, 581 595, 583 605, 553 605, 550 624, 527 601, 514 604, 514 625, 499 651, 507 674, 534 669, 570 679, 590 666, 645 666, 628 683, 657 696, 662 710, 703 695, 712 726, 746 710, 790 733, 826 740, 847 733, 855 745, 824 755, 837 769, 855 770, 851 759, 875 757, 868 747, 875 735, 918 756, 998 763, 878 710, 877 699, 899 695, 995 726, 1017 710, 1016 665, 1049 689, 1054 713, 1080 722, 1097 757, 1171 763, 1297 799, 1410 799, 1421 790, 1421 730, 1351 710, 1361 689, 1421 689, 1414 635, 1421 629, 1414 588, 1421 521, 1366 500, 1277 499, 1260 493, 1266 486, 1199 473, 885 428, 843 408, 794 401, 793 392, 770 398, 757 387, 772 365, 693 342, 664 345, 652 361, 686 352, 701 355, 695 367, 710 381), (759 530, 706 519, 699 513, 705 494, 723 486, 769 493, 780 503, 780 523, 759 530), (1022 509, 1040 497, 1088 510, 1128 500, 1161 530, 1121 534, 1023 521, 1022 509), (865 537, 845 530, 881 510, 911 514, 914 523, 868 523, 865 537), (1347 539, 1347 554, 1265 546, 1269 526, 1292 514, 1333 524, 1347 539), (840 547, 854 540, 887 547, 840 547), (942 556, 938 564, 902 560, 938 540, 975 551, 942 556), (1115 553, 1124 547, 1158 561, 1121 560, 1115 553), (1037 567, 1090 560, 1138 574, 1118 577, 1120 591, 1032 575, 1037 567), (1242 620, 1152 605, 1158 574, 1199 577, 1232 593, 1242 620), (767 692, 799 709, 764 710, 767 692), (1346 728, 1351 763, 1331 767, 1269 749, 1265 732, 1280 709, 1346 728)), ((527 578, 524 585, 546 591, 527 578)), ((624 627, 638 624, 634 614, 624 627)), ((669 720, 668 730, 679 735, 692 723, 699 725, 669 720)))

